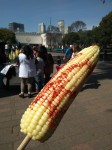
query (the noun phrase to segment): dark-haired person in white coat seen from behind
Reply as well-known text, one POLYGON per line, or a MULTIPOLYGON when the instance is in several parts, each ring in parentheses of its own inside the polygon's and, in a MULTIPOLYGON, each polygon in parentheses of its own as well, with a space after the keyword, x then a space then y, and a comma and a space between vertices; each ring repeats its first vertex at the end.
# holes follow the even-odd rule
POLYGON ((22 52, 18 56, 19 62, 19 77, 21 78, 21 93, 20 97, 24 98, 25 84, 28 85, 28 97, 30 98, 32 92, 33 79, 36 75, 35 57, 29 45, 22 48, 22 52))

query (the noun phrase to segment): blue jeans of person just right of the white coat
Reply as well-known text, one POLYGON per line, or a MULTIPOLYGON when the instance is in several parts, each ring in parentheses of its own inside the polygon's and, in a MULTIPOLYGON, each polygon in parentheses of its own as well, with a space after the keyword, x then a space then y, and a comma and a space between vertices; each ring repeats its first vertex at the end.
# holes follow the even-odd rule
POLYGON ((36 91, 40 92, 43 87, 44 87, 44 74, 38 74, 35 76, 36 91))

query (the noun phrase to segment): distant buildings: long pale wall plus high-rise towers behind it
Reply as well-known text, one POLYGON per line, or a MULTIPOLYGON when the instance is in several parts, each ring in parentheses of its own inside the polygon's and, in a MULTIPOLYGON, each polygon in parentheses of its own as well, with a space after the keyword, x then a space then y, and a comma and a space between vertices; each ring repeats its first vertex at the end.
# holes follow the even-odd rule
POLYGON ((50 25, 50 32, 46 31, 44 23, 38 24, 37 32, 24 32, 24 25, 16 22, 9 23, 9 29, 15 32, 16 40, 21 44, 42 44, 46 47, 62 45, 64 35, 64 20, 58 21, 58 26, 50 25), (52 27, 52 28, 51 28, 52 27))

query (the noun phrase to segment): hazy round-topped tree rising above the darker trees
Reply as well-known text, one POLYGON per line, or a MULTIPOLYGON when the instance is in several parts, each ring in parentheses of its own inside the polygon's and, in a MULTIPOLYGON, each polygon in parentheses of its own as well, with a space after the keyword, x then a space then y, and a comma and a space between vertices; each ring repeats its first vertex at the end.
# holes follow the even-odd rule
POLYGON ((86 24, 83 21, 75 21, 74 23, 71 24, 70 26, 71 32, 78 32, 80 30, 82 31, 86 30, 86 24))

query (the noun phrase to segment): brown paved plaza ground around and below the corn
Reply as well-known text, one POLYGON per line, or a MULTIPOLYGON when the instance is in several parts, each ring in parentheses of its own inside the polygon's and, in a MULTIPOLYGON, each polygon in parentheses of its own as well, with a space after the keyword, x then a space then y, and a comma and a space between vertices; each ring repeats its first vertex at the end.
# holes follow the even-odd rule
MULTIPOLYGON (((19 82, 0 91, 0 150, 16 150, 25 138, 20 119, 33 98, 18 97, 19 82)), ((51 138, 25 150, 112 150, 112 62, 99 61, 51 138)))

